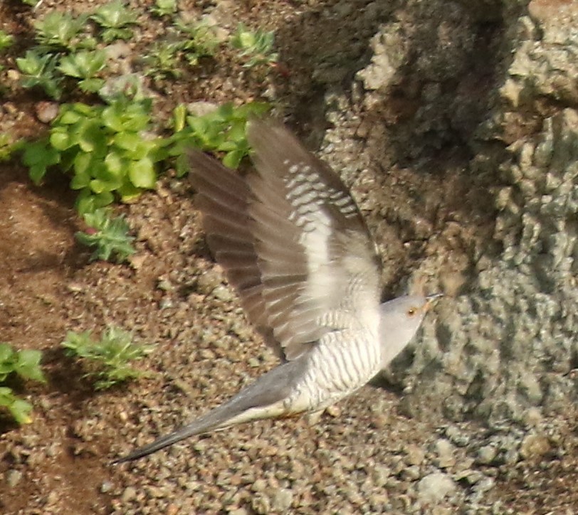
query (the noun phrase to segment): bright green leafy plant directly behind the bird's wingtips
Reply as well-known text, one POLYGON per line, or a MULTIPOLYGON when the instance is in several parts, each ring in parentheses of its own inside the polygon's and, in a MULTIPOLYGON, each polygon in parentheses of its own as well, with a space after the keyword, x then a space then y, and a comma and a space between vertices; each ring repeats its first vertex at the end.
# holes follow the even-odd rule
POLYGON ((236 168, 249 152, 245 128, 251 117, 261 116, 270 110, 266 102, 250 102, 235 106, 221 105, 202 116, 186 116, 182 108, 174 113, 174 145, 170 153, 177 156, 177 174, 189 170, 186 149, 196 147, 211 152, 224 152, 223 164, 236 168))

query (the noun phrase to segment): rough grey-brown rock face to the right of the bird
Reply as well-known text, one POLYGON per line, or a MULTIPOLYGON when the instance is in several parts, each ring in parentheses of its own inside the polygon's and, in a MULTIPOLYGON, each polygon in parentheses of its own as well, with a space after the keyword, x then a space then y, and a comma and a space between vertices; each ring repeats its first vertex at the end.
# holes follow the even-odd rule
POLYGON ((574 1, 409 1, 328 95, 325 157, 385 281, 448 294, 387 373, 410 413, 499 425, 576 396, 577 27, 574 1))

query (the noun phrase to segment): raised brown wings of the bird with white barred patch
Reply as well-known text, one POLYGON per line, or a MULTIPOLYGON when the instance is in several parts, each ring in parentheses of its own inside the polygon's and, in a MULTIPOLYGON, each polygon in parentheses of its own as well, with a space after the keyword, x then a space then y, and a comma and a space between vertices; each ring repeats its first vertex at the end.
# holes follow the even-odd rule
POLYGON ((377 337, 379 265, 344 184, 280 124, 248 125, 256 173, 191 153, 209 248, 248 318, 287 360, 322 336, 377 337))

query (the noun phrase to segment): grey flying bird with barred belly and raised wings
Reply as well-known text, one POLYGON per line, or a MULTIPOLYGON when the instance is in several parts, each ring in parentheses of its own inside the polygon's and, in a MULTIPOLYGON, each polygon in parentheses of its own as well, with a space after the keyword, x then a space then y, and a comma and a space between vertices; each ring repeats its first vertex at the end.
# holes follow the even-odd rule
POLYGON ((441 296, 380 302, 377 249, 337 174, 280 122, 249 120, 246 134, 250 173, 191 151, 189 177, 209 249, 280 364, 115 463, 253 420, 322 412, 382 371, 441 296))

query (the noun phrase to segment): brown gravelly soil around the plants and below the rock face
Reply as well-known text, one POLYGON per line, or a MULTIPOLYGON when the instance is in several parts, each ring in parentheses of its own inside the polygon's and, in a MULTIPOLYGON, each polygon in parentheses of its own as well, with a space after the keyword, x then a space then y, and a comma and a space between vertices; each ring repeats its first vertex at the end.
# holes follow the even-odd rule
MULTIPOLYGON (((78 1, 75 9, 100 3, 78 1)), ((320 11, 336 2, 181 4, 191 14, 217 4, 220 16, 235 23, 275 29, 282 60, 288 46, 303 48, 299 58, 293 53, 284 63, 289 79, 256 77, 223 55, 189 80, 157 87, 159 116, 174 102, 246 101, 275 86, 290 122, 300 135, 313 134, 305 139, 315 146, 323 124, 322 92, 306 87, 308 49, 295 35, 315 33, 320 11)), ((46 0, 34 16, 68 5, 46 0)), ((31 43, 31 16, 18 1, 0 6, 0 28, 18 34, 20 48, 31 43)), ((135 52, 157 29, 141 27, 135 52)), ((364 44, 370 29, 359 35, 364 44)), ((328 40, 325 48, 337 51, 336 41, 328 40)), ((13 85, 3 98, 1 129, 16 137, 46 131, 36 119, 41 100, 43 95, 13 85)), ((169 172, 156 191, 118 208, 127 214, 137 253, 128 264, 115 265, 89 262, 90 252, 75 242, 82 223, 68 179, 54 174, 33 186, 17 159, 0 164, 0 179, 0 340, 43 351, 48 378, 44 386, 16 385, 34 405, 33 423, 0 422, 2 513, 575 512, 576 413, 552 421, 553 433, 562 435, 556 452, 511 466, 485 464, 472 450, 472 442, 485 436, 483 425, 409 418, 399 409, 401 392, 376 386, 363 388, 317 423, 266 420, 112 466, 116 457, 236 393, 274 366, 275 357, 251 330, 212 260, 186 181, 169 172), (157 345, 139 364, 152 376, 95 392, 60 343, 66 331, 100 334, 110 324, 157 345), (453 449, 445 464, 441 440, 453 449), (453 477, 453 489, 446 499, 429 503, 424 479, 440 470, 453 477), (487 489, 475 474, 488 479, 487 489)), ((408 174, 400 188, 411 190, 411 181, 421 180, 408 174)))

